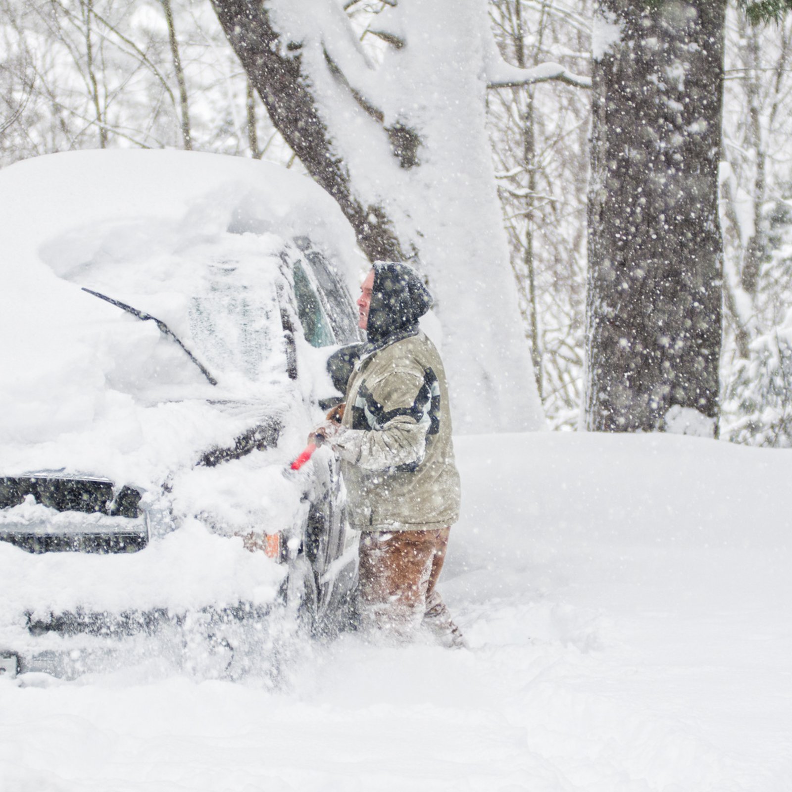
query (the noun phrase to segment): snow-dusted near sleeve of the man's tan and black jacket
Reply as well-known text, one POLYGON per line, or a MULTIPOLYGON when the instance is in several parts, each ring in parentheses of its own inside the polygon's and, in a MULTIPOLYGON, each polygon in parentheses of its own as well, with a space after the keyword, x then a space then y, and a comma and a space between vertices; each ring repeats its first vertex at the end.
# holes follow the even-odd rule
POLYGON ((370 429, 341 428, 331 441, 352 464, 366 470, 415 468, 424 460, 430 426, 423 378, 395 370, 359 398, 370 429))

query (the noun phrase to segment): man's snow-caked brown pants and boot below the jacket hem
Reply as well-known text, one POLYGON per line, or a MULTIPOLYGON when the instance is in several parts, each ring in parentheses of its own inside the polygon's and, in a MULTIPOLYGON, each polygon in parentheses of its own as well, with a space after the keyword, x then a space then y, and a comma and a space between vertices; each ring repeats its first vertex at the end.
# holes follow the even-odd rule
POLYGON ((425 623, 441 643, 459 645, 462 636, 440 594, 448 528, 435 531, 365 533, 360 540, 360 623, 397 639, 412 638, 425 623), (459 640, 444 635, 454 634, 459 640))

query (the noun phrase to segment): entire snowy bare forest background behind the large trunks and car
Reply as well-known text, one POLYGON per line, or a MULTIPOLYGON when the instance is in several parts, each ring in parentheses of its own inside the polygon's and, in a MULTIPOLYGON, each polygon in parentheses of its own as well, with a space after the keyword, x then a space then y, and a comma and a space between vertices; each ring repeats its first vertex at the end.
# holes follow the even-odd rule
MULTIPOLYGON (((342 5, 369 58, 398 46, 378 25, 393 0, 342 5)), ((521 69, 552 62, 585 78, 593 18, 588 0, 489 2, 501 55, 521 69)), ((753 26, 729 5, 719 171, 720 434, 775 447, 792 445, 790 37, 792 19, 753 26)), ((584 400, 591 91, 546 81, 506 84, 485 97, 539 397, 551 428, 577 428, 584 400)), ((209 2, 0 0, 0 167, 107 147, 177 147, 303 169, 209 2)))

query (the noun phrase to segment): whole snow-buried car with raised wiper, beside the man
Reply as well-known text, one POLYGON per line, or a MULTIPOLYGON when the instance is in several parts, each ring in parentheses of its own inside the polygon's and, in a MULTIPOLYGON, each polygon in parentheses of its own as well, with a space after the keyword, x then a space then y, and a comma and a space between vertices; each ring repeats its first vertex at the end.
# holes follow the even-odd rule
POLYGON ((335 462, 289 464, 358 340, 333 202, 174 151, 21 162, 0 202, 0 672, 71 676, 166 633, 178 662, 243 671, 279 607, 340 629, 335 462))

